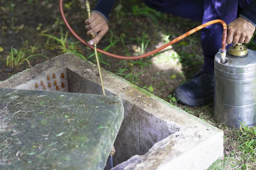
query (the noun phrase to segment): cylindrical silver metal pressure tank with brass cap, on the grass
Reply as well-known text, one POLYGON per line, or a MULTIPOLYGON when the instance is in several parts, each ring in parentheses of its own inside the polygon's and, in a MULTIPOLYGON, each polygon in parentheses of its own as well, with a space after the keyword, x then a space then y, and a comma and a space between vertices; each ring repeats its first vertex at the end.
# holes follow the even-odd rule
POLYGON ((228 127, 239 128, 240 122, 253 126, 256 124, 256 51, 238 44, 230 47, 226 58, 226 63, 222 63, 221 53, 215 55, 214 119, 228 127))

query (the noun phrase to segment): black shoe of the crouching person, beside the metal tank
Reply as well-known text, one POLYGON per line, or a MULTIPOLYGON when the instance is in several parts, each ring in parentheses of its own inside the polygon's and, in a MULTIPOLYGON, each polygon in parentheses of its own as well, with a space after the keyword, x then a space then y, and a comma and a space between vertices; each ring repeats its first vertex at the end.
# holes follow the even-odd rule
POLYGON ((175 91, 175 98, 189 106, 206 105, 214 96, 214 76, 198 71, 192 80, 180 85, 175 91))

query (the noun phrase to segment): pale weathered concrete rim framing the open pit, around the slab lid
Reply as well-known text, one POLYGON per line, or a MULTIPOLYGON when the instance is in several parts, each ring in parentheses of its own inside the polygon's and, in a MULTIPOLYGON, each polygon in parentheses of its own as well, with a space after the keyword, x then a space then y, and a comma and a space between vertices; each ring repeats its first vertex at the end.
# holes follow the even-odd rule
MULTIPOLYGON (((44 64, 24 71, 22 77, 13 76, 4 82, 0 82, 0 87, 26 88, 26 85, 22 85, 23 83, 18 84, 19 82, 26 82, 27 77, 34 76, 35 79, 35 77, 42 74, 46 75, 49 72, 66 68, 68 71, 79 75, 81 79, 88 79, 92 82, 90 88, 93 90, 90 93, 96 94, 100 92, 100 86, 96 87, 96 85, 100 85, 99 77, 96 74, 98 72, 96 65, 88 61, 82 61, 73 54, 63 54, 50 59, 44 64)), ((135 108, 140 108, 140 111, 145 111, 157 119, 164 120, 169 130, 175 132, 167 136, 166 139, 154 144, 145 155, 134 156, 140 160, 140 163, 132 157, 130 161, 136 162, 136 166, 131 169, 164 170, 166 166, 172 165, 172 167, 183 170, 204 170, 223 156, 224 134, 222 130, 132 85, 115 74, 102 69, 102 75, 107 95, 122 97, 123 101, 127 101, 135 108), (165 150, 166 154, 162 153, 162 156, 159 156, 157 153, 161 153, 161 148, 164 148, 163 150, 165 150), (150 156, 153 157, 150 158, 150 156), (150 164, 148 162, 149 158, 154 163, 150 164)), ((80 81, 79 79, 76 80, 80 81)), ((79 93, 84 93, 86 90, 82 90, 83 86, 77 83, 76 87, 72 88, 76 88, 79 93)), ((89 87, 87 92, 89 91, 88 89, 89 87)), ((126 106, 127 103, 124 107, 126 108, 126 106)), ((121 129, 125 128, 121 126, 121 129)), ((131 162, 126 161, 117 167, 119 166, 129 169, 131 162)), ((117 167, 114 167, 114 169, 117 167)))

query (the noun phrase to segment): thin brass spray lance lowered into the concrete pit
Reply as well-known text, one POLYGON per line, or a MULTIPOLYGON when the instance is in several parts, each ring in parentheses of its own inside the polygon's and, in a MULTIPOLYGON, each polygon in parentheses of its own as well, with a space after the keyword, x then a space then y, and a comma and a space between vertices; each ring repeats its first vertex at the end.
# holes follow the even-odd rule
MULTIPOLYGON (((91 17, 91 10, 90 10, 90 3, 88 0, 84 0, 84 3, 85 3, 85 7, 86 7, 86 11, 87 11, 87 18, 89 19, 91 17)), ((96 37, 96 34, 93 34, 91 35, 92 39, 96 37)), ((102 94, 105 96, 106 93, 105 93, 105 88, 104 88, 104 83, 103 83, 103 78, 102 78, 102 74, 101 74, 101 69, 100 69, 100 64, 99 64, 99 57, 98 57, 98 51, 97 51, 97 43, 95 43, 93 45, 94 47, 94 51, 95 51, 95 57, 96 57, 96 60, 97 60, 97 65, 98 65, 98 70, 99 70, 99 79, 100 79, 100 84, 102 86, 102 94)), ((106 165, 106 168, 107 169, 111 169, 113 167, 113 160, 112 160, 112 156, 116 153, 116 150, 115 150, 115 147, 113 146, 111 148, 111 153, 110 153, 110 156, 108 158, 108 161, 110 162, 107 162, 107 165, 106 165), (109 164, 110 163, 110 164, 109 164)))

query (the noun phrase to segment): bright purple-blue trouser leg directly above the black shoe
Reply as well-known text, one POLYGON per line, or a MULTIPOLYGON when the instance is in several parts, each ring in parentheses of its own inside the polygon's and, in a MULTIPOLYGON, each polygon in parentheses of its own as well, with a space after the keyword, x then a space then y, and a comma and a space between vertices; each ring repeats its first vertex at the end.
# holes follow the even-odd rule
MULTIPOLYGON (((204 0, 204 17, 202 23, 211 20, 224 20, 226 24, 236 20, 238 0, 204 0)), ((201 41, 204 53, 202 69, 214 74, 214 56, 221 47, 223 26, 219 23, 202 29, 201 41)), ((229 48, 229 45, 226 49, 229 48)))

